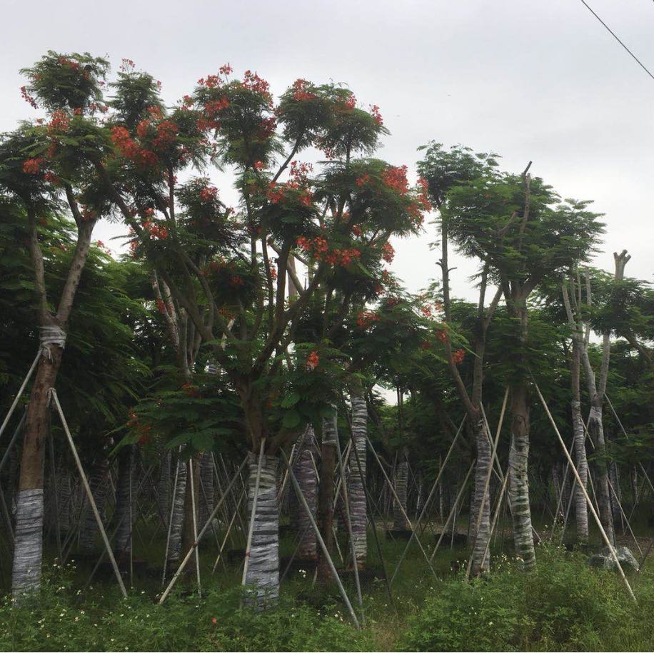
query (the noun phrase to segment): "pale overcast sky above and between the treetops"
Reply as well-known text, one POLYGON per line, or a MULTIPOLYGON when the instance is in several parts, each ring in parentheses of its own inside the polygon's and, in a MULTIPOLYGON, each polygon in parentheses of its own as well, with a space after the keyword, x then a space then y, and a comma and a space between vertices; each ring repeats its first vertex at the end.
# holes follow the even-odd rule
MULTIPOLYGON (((122 57, 163 83, 173 103, 229 61, 258 71, 281 93, 298 77, 345 82, 378 104, 391 136, 379 152, 413 168, 435 139, 503 156, 503 168, 543 176, 563 197, 595 201, 606 214, 604 253, 633 259, 628 275, 653 273, 651 191, 654 79, 640 69, 580 0, 112 0, 102 4, 3 0, 0 130, 31 108, 19 69, 48 49, 122 57)), ((588 0, 654 71, 654 2, 588 0)), ((100 225, 108 240, 116 227, 100 225)), ((396 243, 393 269, 410 290, 437 274, 436 238, 396 243)), ((472 297, 457 261, 453 285, 472 297)))

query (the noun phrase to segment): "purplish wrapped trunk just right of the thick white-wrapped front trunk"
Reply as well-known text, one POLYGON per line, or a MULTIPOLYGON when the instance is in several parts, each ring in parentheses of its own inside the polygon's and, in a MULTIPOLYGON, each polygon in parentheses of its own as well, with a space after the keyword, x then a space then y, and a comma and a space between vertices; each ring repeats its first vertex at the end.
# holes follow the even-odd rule
MULTIPOLYGON (((296 475, 298 485, 308 506, 311 508, 313 517, 316 517, 316 502, 318 499, 318 479, 316 478, 316 468, 313 466, 313 449, 316 445, 316 436, 313 434, 313 427, 308 426, 306 431, 298 440, 300 453, 293 466, 293 472, 296 475)), ((298 558, 301 560, 316 560, 318 556, 318 542, 316 533, 313 532, 311 521, 304 510, 299 497, 296 497, 295 490, 291 490, 293 497, 296 517, 295 527, 300 537, 298 545, 298 558)))

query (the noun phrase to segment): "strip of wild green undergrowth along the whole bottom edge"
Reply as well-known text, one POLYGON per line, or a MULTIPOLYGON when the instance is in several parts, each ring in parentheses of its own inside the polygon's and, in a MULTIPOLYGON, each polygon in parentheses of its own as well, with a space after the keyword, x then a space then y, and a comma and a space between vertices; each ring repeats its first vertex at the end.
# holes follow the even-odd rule
POLYGON ((53 567, 38 601, 29 597, 16 606, 6 597, 0 604, 0 649, 654 648, 654 576, 648 568, 631 578, 638 605, 615 574, 591 569, 580 552, 554 547, 539 547, 538 567, 529 574, 505 556, 494 560, 489 577, 468 583, 464 573, 436 580, 411 569, 393 587, 392 603, 383 583, 373 584, 364 598, 366 624, 357 631, 335 592, 306 592, 311 578, 288 583, 275 609, 256 614, 240 607, 238 588, 209 586, 201 597, 180 589, 159 606, 144 590, 132 590, 127 599, 109 586, 82 592, 72 585, 71 569, 53 567))

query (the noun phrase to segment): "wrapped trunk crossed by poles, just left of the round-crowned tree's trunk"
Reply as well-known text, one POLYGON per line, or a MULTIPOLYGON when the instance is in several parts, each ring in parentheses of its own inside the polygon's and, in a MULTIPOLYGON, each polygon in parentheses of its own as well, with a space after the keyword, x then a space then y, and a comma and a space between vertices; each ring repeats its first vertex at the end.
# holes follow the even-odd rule
POLYGON ((477 445, 477 462, 475 465, 475 487, 471 502, 471 514, 474 516, 473 523, 473 563, 471 575, 478 576, 490 569, 490 555, 486 551, 490 539, 490 483, 488 487, 488 473, 492 464, 493 452, 486 430, 486 423, 481 415, 478 416, 475 425, 475 440, 477 445), (486 490, 486 497, 484 497, 486 490), (483 500, 483 505, 482 505, 483 500), (479 511, 481 510, 481 519, 479 511), (477 529, 477 522, 479 528, 477 529))

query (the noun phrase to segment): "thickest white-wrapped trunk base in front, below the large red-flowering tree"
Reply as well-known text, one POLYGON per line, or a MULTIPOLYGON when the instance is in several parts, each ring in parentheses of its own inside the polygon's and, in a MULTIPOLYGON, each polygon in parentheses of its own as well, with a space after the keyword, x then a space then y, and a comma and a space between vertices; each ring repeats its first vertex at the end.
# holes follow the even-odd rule
MULTIPOLYGON (((263 454, 256 495, 256 511, 245 577, 247 602, 266 609, 279 596, 279 510, 277 504, 277 457, 263 454)), ((248 513, 255 507, 254 497, 258 455, 248 452, 248 513)))

